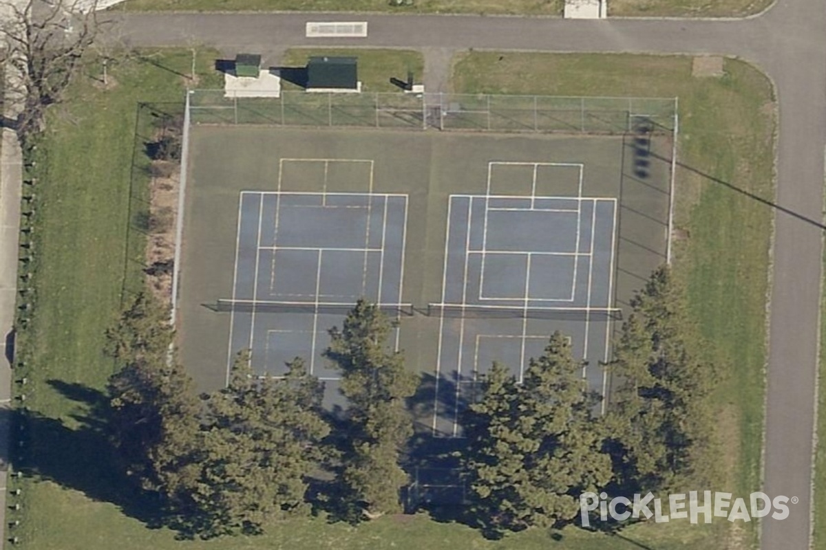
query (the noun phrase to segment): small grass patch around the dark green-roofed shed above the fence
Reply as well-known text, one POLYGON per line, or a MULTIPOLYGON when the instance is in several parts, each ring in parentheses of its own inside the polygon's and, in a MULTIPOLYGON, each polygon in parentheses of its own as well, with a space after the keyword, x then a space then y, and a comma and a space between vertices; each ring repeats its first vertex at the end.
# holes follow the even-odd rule
MULTIPOLYGON (((406 80, 408 71, 414 82, 421 82, 425 71, 425 58, 409 49, 346 49, 346 48, 294 48, 288 49, 282 58, 284 67, 304 67, 307 59, 320 55, 353 56, 358 58, 358 80, 363 92, 401 92, 390 78, 406 80)), ((284 90, 303 88, 282 80, 284 90)))

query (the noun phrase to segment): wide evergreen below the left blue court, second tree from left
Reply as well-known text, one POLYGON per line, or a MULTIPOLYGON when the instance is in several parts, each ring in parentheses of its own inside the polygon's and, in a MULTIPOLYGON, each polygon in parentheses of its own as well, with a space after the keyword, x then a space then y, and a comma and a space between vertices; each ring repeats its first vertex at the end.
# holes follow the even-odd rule
POLYGON ((186 487, 202 535, 256 533, 265 521, 307 510, 306 476, 330 428, 317 378, 299 359, 288 366, 284 378, 258 378, 242 354, 229 386, 207 399, 186 487))

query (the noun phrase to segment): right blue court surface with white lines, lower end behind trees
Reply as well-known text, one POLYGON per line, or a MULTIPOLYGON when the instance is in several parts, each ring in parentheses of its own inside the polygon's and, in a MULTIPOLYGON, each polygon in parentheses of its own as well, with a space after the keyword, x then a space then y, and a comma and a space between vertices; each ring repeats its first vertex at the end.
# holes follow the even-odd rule
POLYGON ((494 361, 521 379, 553 331, 572 337, 591 388, 605 386, 613 303, 613 198, 452 195, 445 242, 433 430, 458 416, 494 361))

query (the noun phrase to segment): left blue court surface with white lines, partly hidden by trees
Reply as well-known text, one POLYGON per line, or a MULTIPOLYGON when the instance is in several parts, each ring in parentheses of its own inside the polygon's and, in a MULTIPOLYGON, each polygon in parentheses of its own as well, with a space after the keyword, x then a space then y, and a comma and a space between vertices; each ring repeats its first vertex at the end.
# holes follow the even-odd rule
POLYGON ((268 376, 303 357, 339 401, 327 331, 358 299, 401 303, 406 195, 244 191, 239 209, 228 368, 244 349, 268 376))

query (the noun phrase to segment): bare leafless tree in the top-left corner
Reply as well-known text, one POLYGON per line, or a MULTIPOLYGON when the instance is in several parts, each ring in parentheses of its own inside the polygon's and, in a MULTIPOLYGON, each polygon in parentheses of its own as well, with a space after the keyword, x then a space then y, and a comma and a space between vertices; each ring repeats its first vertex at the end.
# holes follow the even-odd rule
POLYGON ((7 120, 21 143, 43 129, 46 107, 58 103, 83 53, 97 35, 97 0, 4 0, 0 40, 6 93, 17 102, 17 116, 7 120))

